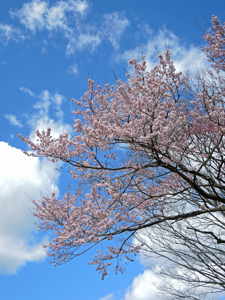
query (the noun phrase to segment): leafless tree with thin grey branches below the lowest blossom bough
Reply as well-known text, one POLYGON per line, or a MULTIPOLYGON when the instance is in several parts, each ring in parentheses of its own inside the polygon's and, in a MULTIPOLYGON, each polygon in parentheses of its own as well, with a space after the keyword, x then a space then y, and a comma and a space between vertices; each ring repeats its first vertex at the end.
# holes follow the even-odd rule
POLYGON ((166 221, 136 238, 145 243, 143 258, 151 258, 148 269, 161 279, 160 298, 200 300, 225 290, 224 212, 166 221))

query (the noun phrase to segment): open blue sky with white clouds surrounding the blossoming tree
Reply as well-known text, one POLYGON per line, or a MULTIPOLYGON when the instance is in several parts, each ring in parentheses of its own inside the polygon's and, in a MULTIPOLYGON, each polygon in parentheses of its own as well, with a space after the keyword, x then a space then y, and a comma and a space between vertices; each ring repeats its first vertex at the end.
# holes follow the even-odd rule
MULTIPOLYGON (((0 291, 1 299, 156 300, 146 261, 137 258, 124 274, 101 281, 88 265, 95 251, 58 267, 42 250, 51 234, 37 232, 30 198, 63 192, 70 178, 46 159, 27 157, 16 135, 35 140, 34 129, 52 123, 52 135, 70 131, 74 106, 96 83, 125 78, 132 55, 146 53, 150 69, 169 44, 176 69, 208 66, 198 37, 205 19, 225 16, 224 1, 0 1, 0 291), (194 20, 196 19, 196 21, 194 20)), ((206 30, 209 30, 206 23, 206 30)), ((60 193, 58 193, 60 194, 60 193)), ((221 295, 223 296, 223 295, 221 295)))

